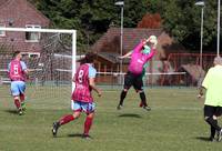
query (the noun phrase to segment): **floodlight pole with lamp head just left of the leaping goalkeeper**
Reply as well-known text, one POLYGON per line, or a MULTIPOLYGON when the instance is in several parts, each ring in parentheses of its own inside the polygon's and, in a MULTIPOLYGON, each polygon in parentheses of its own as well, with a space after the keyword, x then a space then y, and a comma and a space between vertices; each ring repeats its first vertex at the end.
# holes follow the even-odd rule
MULTIPOLYGON (((124 1, 118 1, 114 4, 121 7, 120 56, 122 56, 122 50, 123 50, 123 11, 124 11, 124 1)), ((121 73, 121 83, 122 83, 122 59, 120 60, 120 73, 121 73)))

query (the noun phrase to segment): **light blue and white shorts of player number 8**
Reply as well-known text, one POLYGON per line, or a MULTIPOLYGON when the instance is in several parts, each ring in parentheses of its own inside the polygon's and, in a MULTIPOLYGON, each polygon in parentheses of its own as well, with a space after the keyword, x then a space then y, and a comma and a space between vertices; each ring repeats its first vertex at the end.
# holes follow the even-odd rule
POLYGON ((92 113, 95 110, 95 103, 94 102, 81 102, 81 101, 72 101, 71 108, 74 112, 85 112, 85 113, 92 113))

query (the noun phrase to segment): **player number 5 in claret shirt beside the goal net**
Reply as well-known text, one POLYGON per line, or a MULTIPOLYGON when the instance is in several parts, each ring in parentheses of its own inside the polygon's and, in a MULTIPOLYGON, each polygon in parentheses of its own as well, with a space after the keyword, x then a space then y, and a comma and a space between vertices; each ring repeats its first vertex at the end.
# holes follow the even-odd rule
POLYGON ((8 73, 11 80, 11 93, 13 95, 14 104, 19 114, 23 114, 26 110, 24 104, 24 91, 26 91, 26 76, 28 76, 28 69, 23 61, 21 61, 21 52, 16 51, 13 53, 13 60, 8 66, 8 73))

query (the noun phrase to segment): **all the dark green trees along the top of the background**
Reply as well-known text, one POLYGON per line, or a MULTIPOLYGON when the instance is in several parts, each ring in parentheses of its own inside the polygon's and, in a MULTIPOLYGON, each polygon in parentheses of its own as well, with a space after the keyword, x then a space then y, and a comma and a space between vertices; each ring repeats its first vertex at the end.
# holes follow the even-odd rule
MULTIPOLYGON (((110 26, 120 27, 120 8, 112 0, 30 0, 53 28, 77 29, 78 50, 93 44, 110 26)), ((188 49, 199 50, 201 8, 193 0, 125 0, 124 27, 137 28, 145 13, 160 13, 162 28, 188 49)), ((203 50, 215 49, 216 1, 205 1, 203 50)))

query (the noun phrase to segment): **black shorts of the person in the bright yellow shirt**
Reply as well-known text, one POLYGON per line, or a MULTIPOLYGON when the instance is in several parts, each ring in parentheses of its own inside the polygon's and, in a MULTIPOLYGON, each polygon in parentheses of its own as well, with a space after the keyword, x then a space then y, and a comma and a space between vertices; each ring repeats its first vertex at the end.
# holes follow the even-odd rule
POLYGON ((220 117, 222 114, 222 107, 204 105, 204 117, 220 117))

